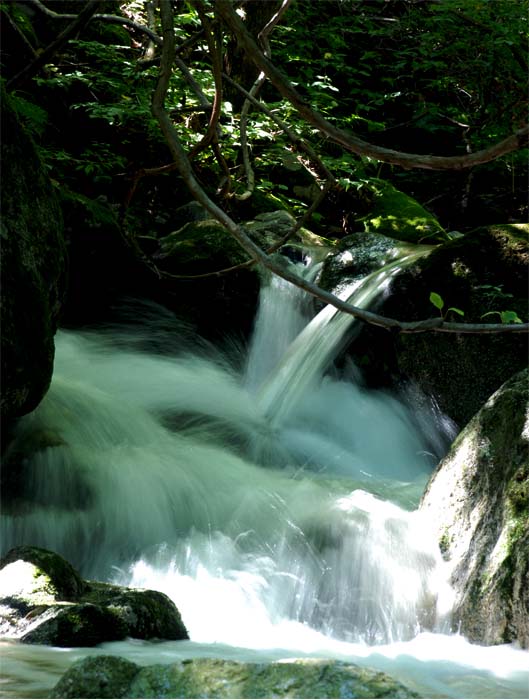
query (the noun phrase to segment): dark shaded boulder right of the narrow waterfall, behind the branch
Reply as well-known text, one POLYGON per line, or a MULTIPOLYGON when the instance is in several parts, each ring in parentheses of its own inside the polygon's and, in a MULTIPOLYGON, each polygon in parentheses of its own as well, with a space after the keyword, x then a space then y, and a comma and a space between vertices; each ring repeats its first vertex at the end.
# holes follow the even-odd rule
MULTIPOLYGON (((416 321, 439 314, 436 292, 451 321, 500 321, 514 311, 527 321, 527 225, 490 226, 438 246, 399 274, 378 311, 416 321), (450 307, 461 309, 464 318, 450 307), (489 312, 496 312, 485 316, 489 312)), ((525 334, 395 334, 365 326, 351 348, 375 385, 403 376, 435 397, 441 411, 460 427, 512 374, 527 365, 525 334)))

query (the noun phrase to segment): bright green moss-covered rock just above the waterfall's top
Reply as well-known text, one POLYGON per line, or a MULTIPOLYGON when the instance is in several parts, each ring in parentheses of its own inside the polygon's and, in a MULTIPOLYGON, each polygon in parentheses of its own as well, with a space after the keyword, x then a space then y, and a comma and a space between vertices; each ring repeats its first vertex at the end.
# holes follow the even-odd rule
POLYGON ((370 182, 374 195, 371 211, 363 218, 366 231, 411 243, 447 240, 441 224, 417 200, 384 180, 370 182))

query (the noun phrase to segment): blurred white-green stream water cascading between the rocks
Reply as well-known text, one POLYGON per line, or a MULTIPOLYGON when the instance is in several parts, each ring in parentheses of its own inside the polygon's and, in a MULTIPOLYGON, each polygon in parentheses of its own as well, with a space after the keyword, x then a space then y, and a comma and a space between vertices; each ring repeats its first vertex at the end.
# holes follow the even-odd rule
MULTIPOLYGON (((397 269, 351 302, 370 304, 397 269)), ((190 641, 4 640, 3 697, 46 697, 94 653, 337 658, 426 697, 526 697, 526 652, 449 633, 443 562, 415 510, 453 437, 446 420, 338 372, 353 320, 310 317, 308 299, 275 280, 245 360, 159 312, 58 334, 50 391, 7 454, 24 463, 25 490, 2 513, 3 550, 47 547, 87 578, 162 590, 190 641)))

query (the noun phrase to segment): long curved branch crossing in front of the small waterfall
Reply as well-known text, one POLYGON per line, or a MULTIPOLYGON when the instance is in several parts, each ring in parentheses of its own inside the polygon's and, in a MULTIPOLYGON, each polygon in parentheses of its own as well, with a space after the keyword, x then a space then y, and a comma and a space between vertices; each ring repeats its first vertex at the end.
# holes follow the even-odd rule
POLYGON ((164 134, 167 145, 173 155, 175 163, 182 178, 184 179, 189 191, 193 197, 217 219, 228 232, 238 241, 241 248, 259 264, 266 267, 274 274, 282 277, 287 282, 300 287, 312 296, 321 299, 327 304, 331 304, 340 311, 344 311, 362 321, 371 323, 383 328, 393 329, 401 333, 423 333, 425 331, 437 331, 441 333, 523 333, 529 331, 529 323, 524 324, 465 324, 465 323, 448 323, 442 318, 428 318, 417 322, 398 321, 393 318, 387 318, 379 314, 375 314, 365 309, 360 309, 352 304, 342 301, 330 292, 318 287, 318 285, 308 280, 304 280, 292 270, 284 268, 279 263, 270 258, 259 248, 247 235, 244 229, 237 225, 225 211, 220 209, 204 192, 197 179, 195 178, 191 163, 189 162, 182 145, 178 139, 178 135, 172 125, 172 122, 167 114, 164 106, 165 95, 169 87, 169 79, 171 76, 171 66, 174 60, 174 32, 173 32, 173 14, 171 9, 171 0, 160 0, 160 10, 162 15, 163 27, 163 51, 162 60, 160 62, 160 73, 158 82, 153 94, 152 113, 158 120, 162 133, 164 134))

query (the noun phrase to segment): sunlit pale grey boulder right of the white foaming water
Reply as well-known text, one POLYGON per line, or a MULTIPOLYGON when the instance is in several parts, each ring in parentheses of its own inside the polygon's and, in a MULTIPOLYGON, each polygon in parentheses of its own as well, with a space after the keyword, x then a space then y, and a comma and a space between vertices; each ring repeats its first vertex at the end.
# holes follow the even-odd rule
POLYGON ((439 464, 421 510, 455 590, 454 629, 529 647, 528 372, 494 393, 439 464))

